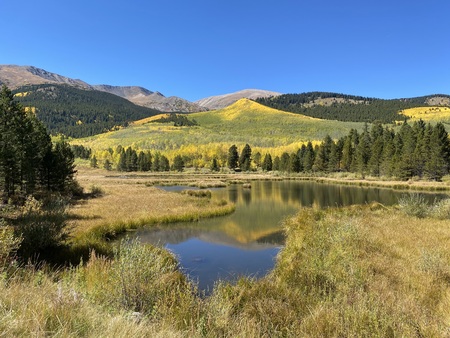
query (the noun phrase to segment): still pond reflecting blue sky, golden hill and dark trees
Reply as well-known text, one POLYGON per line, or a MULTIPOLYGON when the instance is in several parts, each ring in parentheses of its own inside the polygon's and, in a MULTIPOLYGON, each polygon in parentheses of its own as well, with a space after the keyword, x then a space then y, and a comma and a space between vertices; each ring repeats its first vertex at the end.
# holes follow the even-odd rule
MULTIPOLYGON (((165 189, 176 193, 181 188, 165 189)), ((304 181, 256 181, 251 189, 235 184, 212 190, 212 198, 236 204, 233 214, 139 229, 134 236, 175 253, 185 273, 208 293, 218 279, 262 277, 270 271, 284 244, 282 221, 300 207, 326 208, 373 201, 392 205, 402 195, 389 189, 304 181)), ((427 196, 431 201, 442 198, 427 196)))

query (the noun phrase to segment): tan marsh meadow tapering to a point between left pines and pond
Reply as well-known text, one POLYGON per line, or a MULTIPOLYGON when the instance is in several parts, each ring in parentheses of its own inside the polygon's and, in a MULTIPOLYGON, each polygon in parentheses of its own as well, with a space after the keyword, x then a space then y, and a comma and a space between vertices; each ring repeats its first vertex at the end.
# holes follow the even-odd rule
MULTIPOLYGON (((81 185, 96 187, 95 190, 100 190, 102 194, 81 200, 69 209, 72 227, 70 247, 73 251, 66 253, 69 256, 76 258, 81 254, 86 259, 92 248, 98 253, 110 255, 111 247, 107 241, 129 229, 198 221, 235 210, 234 204, 149 186, 146 175, 118 177, 104 174, 102 170, 79 170, 81 185)), ((201 194, 207 197, 208 191, 201 194)))

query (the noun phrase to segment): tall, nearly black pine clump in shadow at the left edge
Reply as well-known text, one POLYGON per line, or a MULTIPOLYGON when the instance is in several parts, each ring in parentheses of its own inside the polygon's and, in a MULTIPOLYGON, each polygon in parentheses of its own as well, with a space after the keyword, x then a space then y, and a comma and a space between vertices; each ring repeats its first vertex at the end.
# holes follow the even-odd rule
POLYGON ((52 143, 44 125, 25 112, 11 90, 0 93, 0 195, 4 203, 74 187, 74 155, 67 142, 52 143))

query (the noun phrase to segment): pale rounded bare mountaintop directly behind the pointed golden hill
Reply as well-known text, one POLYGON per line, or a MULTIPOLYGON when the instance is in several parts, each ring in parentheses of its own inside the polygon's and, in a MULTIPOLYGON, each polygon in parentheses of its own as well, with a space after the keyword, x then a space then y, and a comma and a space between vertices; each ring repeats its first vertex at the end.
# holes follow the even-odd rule
POLYGON ((277 92, 271 92, 268 90, 260 90, 260 89, 245 89, 235 93, 218 95, 218 96, 210 96, 194 103, 197 103, 199 106, 206 107, 208 109, 221 109, 225 108, 240 99, 257 99, 260 97, 272 97, 281 95, 277 92))

